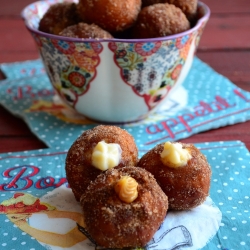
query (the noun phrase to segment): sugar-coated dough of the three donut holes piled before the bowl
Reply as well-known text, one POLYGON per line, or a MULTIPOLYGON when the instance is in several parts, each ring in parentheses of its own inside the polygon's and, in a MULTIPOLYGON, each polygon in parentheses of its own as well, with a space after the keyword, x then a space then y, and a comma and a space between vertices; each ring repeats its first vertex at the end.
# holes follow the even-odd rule
POLYGON ((82 206, 85 229, 97 246, 144 247, 168 210, 190 210, 205 201, 210 166, 193 144, 180 144, 191 158, 177 168, 162 163, 164 144, 138 159, 134 138, 117 126, 98 125, 83 132, 72 144, 66 157, 66 177, 82 206), (91 161, 100 141, 116 143, 121 148, 119 164, 106 171, 96 169, 91 161), (138 195, 132 202, 122 200, 116 192, 117 183, 124 177, 138 183, 138 195))

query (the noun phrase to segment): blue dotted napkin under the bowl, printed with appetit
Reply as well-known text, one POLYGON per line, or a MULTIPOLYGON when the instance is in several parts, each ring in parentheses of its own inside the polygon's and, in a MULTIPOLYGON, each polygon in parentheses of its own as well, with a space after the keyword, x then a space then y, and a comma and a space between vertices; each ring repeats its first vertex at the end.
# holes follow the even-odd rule
MULTIPOLYGON (((0 104, 21 116, 49 147, 68 149, 96 124, 67 108, 49 83, 40 60, 2 64, 0 104)), ((198 58, 184 84, 156 113, 139 123, 121 125, 136 140, 140 155, 166 140, 250 119, 250 93, 238 88, 198 58)))

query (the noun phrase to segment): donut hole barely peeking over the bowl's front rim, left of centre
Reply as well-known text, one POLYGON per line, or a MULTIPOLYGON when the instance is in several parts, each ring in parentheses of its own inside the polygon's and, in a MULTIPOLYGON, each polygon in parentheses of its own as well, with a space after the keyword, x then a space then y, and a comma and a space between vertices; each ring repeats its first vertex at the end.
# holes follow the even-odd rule
POLYGON ((89 39, 111 39, 113 36, 95 24, 78 23, 59 33, 60 36, 89 39))

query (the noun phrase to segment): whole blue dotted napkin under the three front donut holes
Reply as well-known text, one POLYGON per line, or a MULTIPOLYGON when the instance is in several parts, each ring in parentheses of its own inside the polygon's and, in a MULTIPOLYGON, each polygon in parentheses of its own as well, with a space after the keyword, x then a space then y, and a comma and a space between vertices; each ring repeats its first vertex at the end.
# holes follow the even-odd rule
MULTIPOLYGON (((210 196, 190 211, 169 212, 145 249, 249 249, 248 150, 240 141, 196 146, 212 168, 210 196)), ((95 249, 81 233, 81 207, 65 178, 66 154, 43 149, 0 155, 1 250, 95 249)))

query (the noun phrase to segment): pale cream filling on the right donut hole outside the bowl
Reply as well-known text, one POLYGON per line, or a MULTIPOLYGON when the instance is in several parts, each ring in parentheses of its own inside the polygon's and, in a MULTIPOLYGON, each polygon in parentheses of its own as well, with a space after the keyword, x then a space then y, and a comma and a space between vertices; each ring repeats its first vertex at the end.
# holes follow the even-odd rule
POLYGON ((181 143, 166 142, 161 153, 161 161, 168 167, 182 167, 185 166, 192 156, 187 149, 182 147, 181 143))

